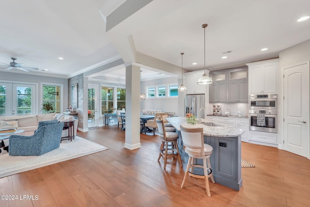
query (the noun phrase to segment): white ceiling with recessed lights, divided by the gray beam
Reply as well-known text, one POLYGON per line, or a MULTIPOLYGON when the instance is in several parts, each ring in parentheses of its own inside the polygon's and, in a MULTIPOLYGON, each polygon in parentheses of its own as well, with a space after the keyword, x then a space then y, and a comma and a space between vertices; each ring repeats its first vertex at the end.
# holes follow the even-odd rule
MULTIPOLYGON (((106 17, 124 2, 1 1, 0 63, 9 64, 16 57, 17 63, 40 69, 30 74, 72 77, 93 65, 124 58, 117 41, 106 33, 106 17)), ((207 23, 206 67, 221 69, 275 58, 279 51, 308 40, 310 19, 296 20, 310 16, 309 8, 310 0, 153 0, 135 13, 136 25, 130 31, 126 28, 124 35, 132 36, 137 52, 177 66, 181 66, 180 52, 184 52, 184 68, 201 70, 202 24, 207 23), (222 59, 226 51, 232 52, 222 59), (197 64, 192 65, 194 62, 197 64)), ((0 71, 5 68, 0 66, 0 71)), ((9 72, 23 73, 18 69, 9 72)), ((154 78, 159 72, 150 73, 154 78)), ((124 79, 124 66, 92 78, 103 76, 124 79)), ((143 76, 142 72, 145 80, 143 76)))

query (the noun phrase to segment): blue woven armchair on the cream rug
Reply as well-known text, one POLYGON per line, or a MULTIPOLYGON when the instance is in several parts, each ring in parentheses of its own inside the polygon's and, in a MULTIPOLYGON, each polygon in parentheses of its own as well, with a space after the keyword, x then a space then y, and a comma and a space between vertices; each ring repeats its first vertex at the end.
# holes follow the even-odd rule
POLYGON ((42 121, 32 136, 11 135, 9 155, 37 156, 59 148, 62 128, 63 123, 58 120, 42 121))

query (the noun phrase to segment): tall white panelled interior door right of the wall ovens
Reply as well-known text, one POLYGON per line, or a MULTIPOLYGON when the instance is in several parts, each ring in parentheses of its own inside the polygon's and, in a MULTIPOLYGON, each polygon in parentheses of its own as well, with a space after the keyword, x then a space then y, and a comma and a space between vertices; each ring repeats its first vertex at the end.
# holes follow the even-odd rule
POLYGON ((284 68, 284 150, 309 150, 309 62, 284 68))

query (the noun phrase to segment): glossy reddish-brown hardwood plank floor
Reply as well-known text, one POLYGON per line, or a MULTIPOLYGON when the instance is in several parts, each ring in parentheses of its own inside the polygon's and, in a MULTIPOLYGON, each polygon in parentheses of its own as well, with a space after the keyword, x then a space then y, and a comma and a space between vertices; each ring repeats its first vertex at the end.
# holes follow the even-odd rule
MULTIPOLYGON (((109 150, 0 178, 0 207, 306 207, 310 206, 310 160, 256 144, 242 143, 242 158, 255 164, 242 168, 243 187, 234 191, 189 177, 177 159, 157 162, 160 138, 141 134, 140 149, 124 148, 124 131, 99 127, 78 136, 109 150), (20 200, 32 195, 32 200, 20 200), (38 199, 35 196, 38 196, 38 199)), ((0 163, 1 164, 1 163, 0 163)))

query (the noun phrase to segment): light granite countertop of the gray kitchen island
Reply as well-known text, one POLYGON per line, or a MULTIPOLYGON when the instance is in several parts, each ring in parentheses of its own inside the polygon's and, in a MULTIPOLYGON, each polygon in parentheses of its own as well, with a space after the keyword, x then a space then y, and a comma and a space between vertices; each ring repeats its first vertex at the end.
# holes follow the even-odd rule
POLYGON ((210 122, 208 120, 202 119, 202 123, 212 123, 213 127, 206 126, 204 124, 188 124, 186 122, 186 117, 170 117, 167 121, 178 131, 180 131, 180 125, 188 128, 203 128, 203 135, 215 136, 215 137, 237 137, 245 132, 245 130, 240 128, 228 127, 223 124, 216 122, 210 122))

